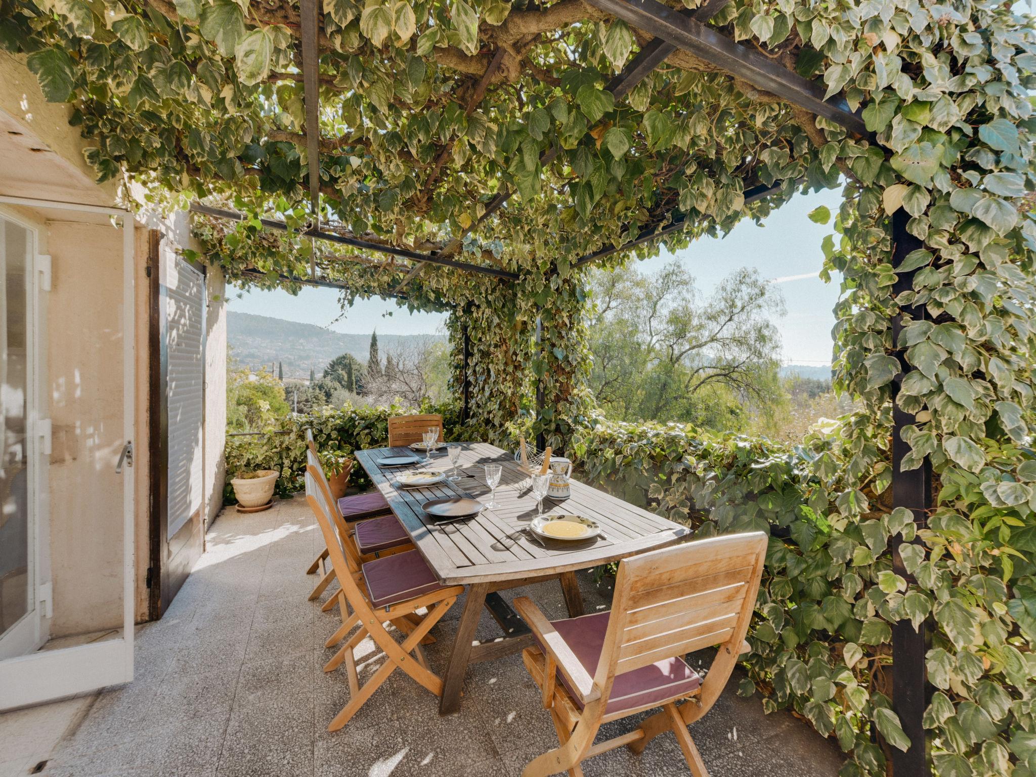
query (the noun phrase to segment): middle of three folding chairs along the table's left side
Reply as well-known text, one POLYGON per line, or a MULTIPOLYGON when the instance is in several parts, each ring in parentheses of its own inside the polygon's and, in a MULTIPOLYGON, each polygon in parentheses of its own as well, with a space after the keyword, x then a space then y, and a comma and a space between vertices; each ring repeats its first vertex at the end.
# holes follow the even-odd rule
MULTIPOLYGON (((307 456, 307 466, 313 467, 313 486, 319 488, 323 493, 323 498, 327 505, 327 511, 330 514, 332 520, 335 522, 335 527, 338 529, 339 536, 346 547, 352 548, 356 551, 356 557, 359 563, 369 562, 372 558, 377 558, 380 555, 386 555, 390 553, 397 553, 401 550, 408 550, 413 547, 410 542, 410 536, 406 533, 403 524, 399 522, 391 512, 388 513, 378 513, 378 505, 384 505, 385 510, 388 508, 388 503, 384 500, 384 497, 378 494, 357 494, 356 496, 346 496, 341 499, 336 500, 330 493, 330 483, 327 482, 327 476, 323 471, 323 467, 320 465, 320 458, 316 453, 316 445, 312 440, 309 440, 309 451, 306 452, 307 456), (367 497, 367 496, 377 496, 379 501, 375 503, 374 500, 368 499, 363 505, 358 505, 356 499, 367 497), (345 511, 351 511, 347 516, 345 511, 343 511, 343 503, 345 505, 345 511), (369 508, 365 512, 362 508, 369 508), (374 518, 370 518, 370 513, 373 512, 374 518), (350 526, 348 523, 349 518, 352 518, 354 522, 350 526), (364 520, 361 520, 364 518, 364 520)), ((309 492, 311 487, 310 481, 307 481, 307 492, 309 492)), ((310 594, 310 601, 318 599, 321 594, 335 580, 335 570, 334 568, 323 569, 322 563, 327 558, 327 548, 324 548, 323 552, 317 556, 314 565, 317 569, 320 569, 322 576, 320 581, 313 588, 310 594)), ((330 609, 335 606, 336 599, 332 598, 324 603, 324 611, 330 609)))

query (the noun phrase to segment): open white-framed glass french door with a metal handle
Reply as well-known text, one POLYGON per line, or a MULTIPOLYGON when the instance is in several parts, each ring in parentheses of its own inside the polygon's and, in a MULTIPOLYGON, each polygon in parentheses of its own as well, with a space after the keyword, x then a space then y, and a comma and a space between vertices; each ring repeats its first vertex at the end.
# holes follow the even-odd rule
POLYGON ((0 195, 0 711, 133 680, 134 229, 0 195))

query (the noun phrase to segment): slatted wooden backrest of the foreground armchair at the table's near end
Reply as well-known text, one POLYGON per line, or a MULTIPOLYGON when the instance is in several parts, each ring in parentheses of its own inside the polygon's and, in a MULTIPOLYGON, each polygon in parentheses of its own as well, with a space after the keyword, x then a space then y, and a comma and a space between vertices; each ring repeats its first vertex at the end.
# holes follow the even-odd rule
POLYGON ((752 531, 689 542, 625 558, 594 681, 607 698, 616 674, 748 633, 767 553, 752 531))

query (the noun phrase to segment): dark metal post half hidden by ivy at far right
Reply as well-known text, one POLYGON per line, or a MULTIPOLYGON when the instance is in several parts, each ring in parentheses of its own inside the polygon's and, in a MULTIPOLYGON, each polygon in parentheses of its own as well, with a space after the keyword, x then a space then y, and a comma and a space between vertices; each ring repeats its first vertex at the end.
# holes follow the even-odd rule
MULTIPOLYGON (((892 264, 899 266, 905 256, 921 248, 921 241, 906 231, 910 214, 899 208, 892 215, 892 264)), ((900 274, 892 287, 894 294, 913 288, 914 271, 900 274)), ((914 320, 926 316, 924 306, 905 308, 914 320)), ((893 347, 898 346, 899 332, 902 329, 900 316, 892 318, 893 347)), ((896 402, 896 394, 902 384, 902 379, 913 367, 906 364, 901 351, 897 352, 901 372, 892 384, 892 507, 906 508, 914 514, 918 526, 925 525, 927 510, 931 507, 931 462, 925 457, 924 463, 917 469, 900 471, 899 465, 910 451, 900 433, 903 427, 915 422, 914 414, 903 412, 896 402)), ((901 538, 892 543, 892 567, 897 575, 913 582, 913 577, 903 568, 899 555, 901 538)), ((921 624, 915 631, 910 621, 899 621, 892 625, 892 709, 899 716, 903 731, 910 737, 911 748, 902 752, 892 749, 892 772, 895 777, 927 777, 931 774, 928 758, 928 741, 925 737, 921 720, 928 702, 929 686, 925 677, 924 654, 927 651, 926 624, 921 624)))

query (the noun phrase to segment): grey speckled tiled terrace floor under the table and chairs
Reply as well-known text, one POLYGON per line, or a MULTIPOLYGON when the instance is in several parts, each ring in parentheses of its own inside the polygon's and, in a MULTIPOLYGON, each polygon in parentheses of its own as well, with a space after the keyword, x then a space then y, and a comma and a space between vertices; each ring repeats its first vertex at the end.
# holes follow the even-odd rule
MULTIPOLYGON (((340 621, 306 600, 315 578, 305 571, 318 537, 300 498, 254 515, 225 511, 169 612, 140 627, 137 679, 95 697, 42 774, 518 775, 555 745, 539 691, 517 655, 472 666, 457 715, 439 717, 437 699, 395 672, 344 729, 329 733, 326 724, 349 692, 344 669, 321 670, 334 654, 323 641, 340 621)), ((607 606, 606 591, 588 577, 581 582, 587 610, 607 606)), ((563 616, 556 582, 509 596, 519 594, 563 616)), ((453 607, 433 631, 438 641, 427 648, 439 673, 460 611, 453 607)), ((480 629, 489 636, 496 625, 484 614, 480 629)), ((362 674, 379 663, 371 646, 362 674)), ((841 757, 832 743, 789 714, 764 716, 757 698, 735 695, 737 680, 691 727, 713 777, 836 775, 841 757)), ((615 731, 628 727, 632 719, 609 724, 615 731)), ((584 766, 587 777, 689 773, 671 733, 641 755, 621 748, 584 766)))

